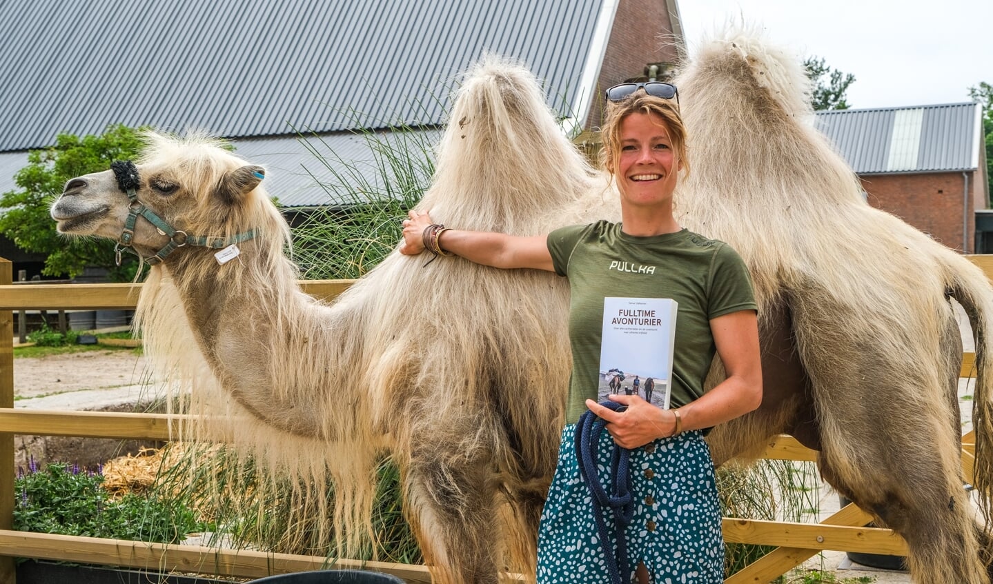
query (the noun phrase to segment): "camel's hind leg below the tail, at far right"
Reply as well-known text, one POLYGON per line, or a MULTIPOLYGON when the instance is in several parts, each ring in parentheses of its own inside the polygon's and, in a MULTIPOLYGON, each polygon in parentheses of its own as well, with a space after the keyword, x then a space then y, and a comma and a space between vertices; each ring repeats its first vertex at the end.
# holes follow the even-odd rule
MULTIPOLYGON (((955 338, 957 334, 954 331, 955 338)), ((942 339, 952 348, 957 345, 950 328, 942 339)), ((953 373, 942 375, 944 387, 932 394, 935 400, 922 403, 919 394, 928 391, 925 385, 917 384, 909 392, 911 384, 905 380, 902 385, 890 376, 851 387, 860 379, 860 368, 868 371, 873 362, 886 363, 884 357, 872 354, 871 345, 861 349, 848 356, 851 370, 837 367, 833 379, 828 375, 817 380, 821 475, 878 518, 879 525, 907 540, 908 567, 916 582, 989 584, 961 480, 960 427, 952 391, 958 365, 953 373), (860 357, 867 361, 859 362, 860 357), (831 391, 839 388, 846 394, 830 399, 831 391), (850 396, 873 396, 873 400, 850 396), (886 405, 887 414, 880 415, 880 404, 886 405)), ((945 365, 950 368, 950 360, 938 366, 945 365)), ((925 375, 922 371, 919 379, 925 375)))

